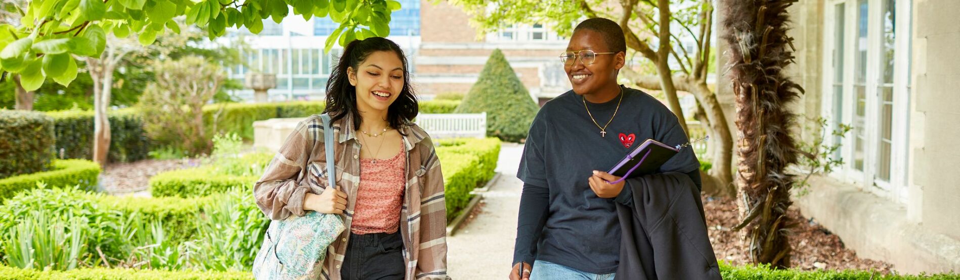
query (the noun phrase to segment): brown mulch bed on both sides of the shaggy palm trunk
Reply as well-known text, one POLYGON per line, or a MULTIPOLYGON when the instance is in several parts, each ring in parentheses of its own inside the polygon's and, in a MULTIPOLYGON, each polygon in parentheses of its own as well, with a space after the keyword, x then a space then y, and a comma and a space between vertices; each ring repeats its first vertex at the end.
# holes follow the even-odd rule
MULTIPOLYGON (((731 230, 739 223, 734 198, 704 197, 703 199, 710 244, 713 245, 717 260, 729 262, 733 266, 750 264, 747 245, 741 242, 740 236, 743 233, 731 230)), ((791 208, 787 211, 787 215, 797 223, 793 228, 794 235, 789 239, 793 247, 791 259, 793 268, 874 270, 883 274, 894 271, 893 265, 857 257, 855 252, 844 246, 840 237, 830 233, 820 224, 804 218, 797 209, 791 208)))

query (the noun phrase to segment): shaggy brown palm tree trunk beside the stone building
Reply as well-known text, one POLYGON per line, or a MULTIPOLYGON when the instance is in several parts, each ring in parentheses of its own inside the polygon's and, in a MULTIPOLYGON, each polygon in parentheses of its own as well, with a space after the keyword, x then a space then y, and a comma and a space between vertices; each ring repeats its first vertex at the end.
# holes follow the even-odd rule
POLYGON ((790 266, 791 247, 786 216, 794 175, 785 169, 797 162, 798 150, 789 129, 795 115, 788 105, 803 88, 783 68, 792 61, 788 47, 787 7, 797 0, 722 0, 726 6, 723 39, 731 49, 728 66, 741 140, 737 202, 746 227, 746 241, 755 263, 790 266))

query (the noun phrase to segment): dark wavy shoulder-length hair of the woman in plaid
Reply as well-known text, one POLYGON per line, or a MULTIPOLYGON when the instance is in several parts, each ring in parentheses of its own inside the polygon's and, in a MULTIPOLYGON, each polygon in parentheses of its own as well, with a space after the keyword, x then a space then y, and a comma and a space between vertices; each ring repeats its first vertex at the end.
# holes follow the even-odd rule
MULTIPOLYGON (((357 110, 356 87, 350 84, 348 80, 347 68, 352 67, 354 71, 363 61, 367 60, 374 52, 394 52, 397 58, 403 62, 403 89, 400 90, 400 96, 396 98, 393 104, 387 108, 387 122, 391 128, 400 128, 408 121, 417 117, 420 112, 420 105, 417 102, 417 95, 410 86, 410 67, 407 64, 407 57, 403 55, 403 49, 396 45, 394 41, 383 37, 369 37, 363 40, 353 40, 344 48, 344 54, 340 56, 340 61, 330 73, 330 80, 326 82, 326 107, 324 113, 329 113, 332 121, 343 119, 350 114, 353 117, 353 128, 359 128, 362 117, 357 110)), ((402 133, 402 132, 401 132, 402 133)))

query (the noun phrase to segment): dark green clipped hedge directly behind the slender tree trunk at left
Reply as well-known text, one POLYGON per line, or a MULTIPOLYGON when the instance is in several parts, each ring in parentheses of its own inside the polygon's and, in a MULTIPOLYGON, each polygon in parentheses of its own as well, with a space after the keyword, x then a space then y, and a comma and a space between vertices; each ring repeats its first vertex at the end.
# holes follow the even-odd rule
MULTIPOLYGON (((54 118, 55 153, 60 158, 93 158, 93 111, 47 112, 54 118)), ((110 162, 133 162, 148 157, 151 141, 143 130, 140 113, 133 108, 110 111, 110 162)))

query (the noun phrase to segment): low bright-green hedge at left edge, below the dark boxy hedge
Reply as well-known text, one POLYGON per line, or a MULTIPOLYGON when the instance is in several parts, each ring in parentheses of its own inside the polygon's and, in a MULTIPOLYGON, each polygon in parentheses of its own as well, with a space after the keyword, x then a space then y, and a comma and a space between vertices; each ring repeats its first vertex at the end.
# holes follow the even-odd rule
POLYGON ((51 186, 79 186, 86 190, 97 186, 97 176, 100 175, 97 163, 84 159, 58 159, 53 163, 51 171, 0 179, 0 198, 12 198, 20 191, 33 189, 37 181, 51 186))

